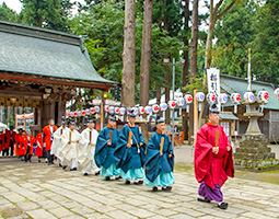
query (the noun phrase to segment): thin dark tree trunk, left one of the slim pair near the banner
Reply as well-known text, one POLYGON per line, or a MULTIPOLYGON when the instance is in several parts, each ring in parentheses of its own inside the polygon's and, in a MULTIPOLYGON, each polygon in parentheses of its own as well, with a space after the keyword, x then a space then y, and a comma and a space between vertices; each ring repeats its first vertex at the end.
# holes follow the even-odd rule
MULTIPOLYGON (((188 31, 189 31, 189 0, 185 0, 185 12, 184 12, 184 31, 185 31, 185 37, 184 37, 184 47, 188 48, 189 46, 189 39, 188 39, 188 31)), ((183 81, 182 87, 186 87, 189 80, 189 49, 184 51, 184 66, 183 66, 183 81)), ((183 93, 186 92, 183 90, 183 93)), ((182 127, 184 131, 184 140, 188 139, 188 119, 187 119, 187 113, 186 111, 183 111, 183 117, 182 117, 182 127)))

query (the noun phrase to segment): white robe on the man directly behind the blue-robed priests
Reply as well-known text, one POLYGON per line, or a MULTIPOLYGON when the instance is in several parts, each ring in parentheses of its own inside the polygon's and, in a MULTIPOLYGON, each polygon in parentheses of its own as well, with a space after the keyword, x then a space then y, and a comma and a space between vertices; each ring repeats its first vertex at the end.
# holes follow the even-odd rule
POLYGON ((82 145, 79 153, 79 162, 83 166, 83 173, 98 172, 100 169, 96 166, 94 161, 95 145, 97 140, 98 132, 95 129, 86 128, 81 132, 82 145), (91 137, 90 137, 91 134, 91 137))

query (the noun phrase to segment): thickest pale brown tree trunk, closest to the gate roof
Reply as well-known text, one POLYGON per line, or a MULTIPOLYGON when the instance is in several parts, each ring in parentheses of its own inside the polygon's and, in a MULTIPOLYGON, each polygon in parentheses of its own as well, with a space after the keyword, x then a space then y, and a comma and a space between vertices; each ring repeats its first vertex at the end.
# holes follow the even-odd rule
POLYGON ((125 0, 121 105, 135 106, 135 0, 125 0))

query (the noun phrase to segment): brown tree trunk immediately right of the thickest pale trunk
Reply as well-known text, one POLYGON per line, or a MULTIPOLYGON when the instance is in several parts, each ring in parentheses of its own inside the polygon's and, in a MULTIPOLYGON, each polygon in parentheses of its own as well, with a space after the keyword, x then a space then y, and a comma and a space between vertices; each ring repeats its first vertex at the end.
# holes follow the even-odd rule
MULTIPOLYGON (((141 61, 140 61, 140 93, 139 103, 142 106, 149 102, 149 78, 151 56, 151 32, 152 32, 152 9, 153 1, 144 0, 144 20, 142 31, 141 61)), ((148 139, 148 124, 141 126, 144 139, 148 139)))

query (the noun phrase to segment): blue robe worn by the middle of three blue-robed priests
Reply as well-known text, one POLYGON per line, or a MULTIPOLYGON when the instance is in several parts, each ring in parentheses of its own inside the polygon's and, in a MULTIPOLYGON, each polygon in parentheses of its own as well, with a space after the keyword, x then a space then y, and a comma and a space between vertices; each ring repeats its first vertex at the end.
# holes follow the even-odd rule
MULTIPOLYGON (((131 180, 135 176, 133 173, 129 174, 130 170, 142 169, 144 164, 144 157, 146 157, 144 154, 146 154, 146 142, 142 137, 142 134, 139 130, 139 127, 138 126, 129 127, 128 125, 125 125, 120 131, 117 147, 115 150, 115 157, 117 159, 118 166, 121 168, 121 171, 124 172, 124 174, 128 173, 128 175, 130 175, 125 177, 121 174, 124 180, 131 180), (130 130, 132 131, 132 138, 131 138, 132 143, 131 143, 131 148, 127 148, 130 130), (138 151, 137 142, 138 142, 139 151, 138 151), (140 142, 142 142, 143 146, 139 146, 140 142)), ((136 175, 138 175, 138 177, 136 178, 143 177, 143 169, 142 169, 142 174, 138 174, 138 173, 136 173, 136 175)))

